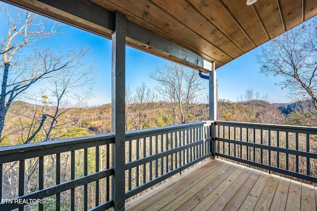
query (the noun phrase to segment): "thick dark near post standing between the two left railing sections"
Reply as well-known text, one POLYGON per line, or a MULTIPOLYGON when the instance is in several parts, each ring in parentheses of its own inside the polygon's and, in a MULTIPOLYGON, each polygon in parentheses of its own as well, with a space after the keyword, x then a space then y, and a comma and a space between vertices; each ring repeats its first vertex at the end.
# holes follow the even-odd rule
POLYGON ((112 200, 113 210, 124 211, 125 200, 125 16, 115 12, 115 31, 112 34, 112 113, 111 132, 115 134, 115 143, 112 145, 112 200))

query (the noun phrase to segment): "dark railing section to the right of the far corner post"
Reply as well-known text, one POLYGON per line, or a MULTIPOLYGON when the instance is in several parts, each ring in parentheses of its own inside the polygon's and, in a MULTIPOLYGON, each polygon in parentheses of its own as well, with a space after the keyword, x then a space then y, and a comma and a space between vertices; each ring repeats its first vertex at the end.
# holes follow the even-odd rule
POLYGON ((216 156, 317 183, 317 128, 215 121, 216 156))

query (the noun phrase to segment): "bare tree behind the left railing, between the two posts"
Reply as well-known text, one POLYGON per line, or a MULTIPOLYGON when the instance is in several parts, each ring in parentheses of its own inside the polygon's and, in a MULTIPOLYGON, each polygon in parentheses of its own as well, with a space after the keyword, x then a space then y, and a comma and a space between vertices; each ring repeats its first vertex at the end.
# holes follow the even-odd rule
POLYGON ((205 89, 197 71, 168 62, 150 77, 159 82, 156 91, 160 101, 171 106, 174 124, 186 123, 189 111, 200 102, 205 89))

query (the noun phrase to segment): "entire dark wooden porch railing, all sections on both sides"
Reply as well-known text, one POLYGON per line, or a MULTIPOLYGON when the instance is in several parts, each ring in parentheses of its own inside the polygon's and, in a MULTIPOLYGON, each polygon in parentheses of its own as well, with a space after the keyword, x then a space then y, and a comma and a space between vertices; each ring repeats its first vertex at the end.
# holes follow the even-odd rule
MULTIPOLYGON (((113 207, 114 137, 0 148, 0 210, 113 207)), ((125 199, 210 157, 213 149, 217 157, 317 182, 315 127, 206 121, 130 131, 125 137, 125 154, 116 156, 125 159, 125 199)))

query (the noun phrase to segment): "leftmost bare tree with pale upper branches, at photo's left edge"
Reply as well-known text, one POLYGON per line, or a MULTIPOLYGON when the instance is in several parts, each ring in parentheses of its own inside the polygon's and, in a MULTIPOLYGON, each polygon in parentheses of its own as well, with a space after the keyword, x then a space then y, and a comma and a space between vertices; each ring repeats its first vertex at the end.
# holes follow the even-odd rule
POLYGON ((57 60, 58 58, 52 60, 47 51, 35 52, 34 55, 37 55, 37 57, 19 59, 17 53, 21 51, 22 47, 35 45, 40 40, 52 37, 58 33, 58 28, 56 28, 56 24, 51 23, 48 19, 39 18, 37 14, 26 10, 16 9, 13 13, 13 9, 6 8, 4 4, 0 5, 0 10, 7 17, 5 24, 8 28, 6 36, 2 36, 0 47, 0 52, 2 52, 2 64, 0 64, 2 69, 0 79, 0 135, 2 135, 5 115, 11 103, 28 87, 42 78, 52 77, 55 71, 67 66, 68 63, 60 63, 57 60), (36 58, 39 63, 43 64, 42 68, 37 68, 32 66, 32 63, 28 63, 36 58))

